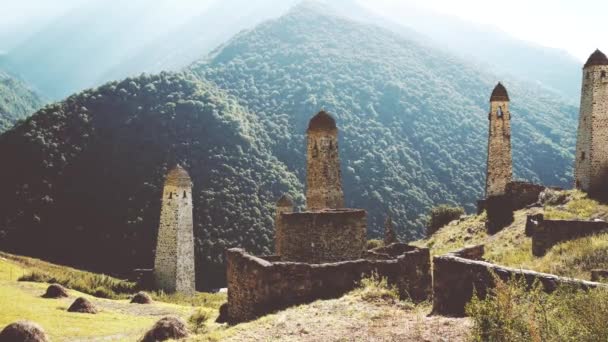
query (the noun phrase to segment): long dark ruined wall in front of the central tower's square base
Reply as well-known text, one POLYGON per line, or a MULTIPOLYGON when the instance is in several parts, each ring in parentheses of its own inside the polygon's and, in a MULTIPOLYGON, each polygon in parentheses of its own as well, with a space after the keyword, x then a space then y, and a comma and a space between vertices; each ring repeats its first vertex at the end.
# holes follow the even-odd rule
POLYGON ((372 273, 386 277, 404 299, 423 301, 430 297, 428 249, 393 244, 368 253, 367 259, 306 264, 269 262, 239 248, 229 249, 228 321, 244 322, 292 305, 337 298, 372 273))

